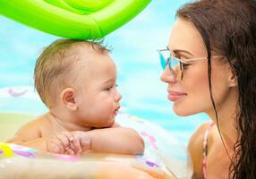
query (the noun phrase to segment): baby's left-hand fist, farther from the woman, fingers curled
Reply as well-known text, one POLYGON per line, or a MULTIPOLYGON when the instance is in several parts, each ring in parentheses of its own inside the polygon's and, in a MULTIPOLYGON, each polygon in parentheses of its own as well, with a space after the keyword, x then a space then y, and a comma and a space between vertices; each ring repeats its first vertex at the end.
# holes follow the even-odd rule
POLYGON ((58 154, 75 154, 73 135, 70 132, 59 132, 51 135, 46 141, 47 150, 58 154))

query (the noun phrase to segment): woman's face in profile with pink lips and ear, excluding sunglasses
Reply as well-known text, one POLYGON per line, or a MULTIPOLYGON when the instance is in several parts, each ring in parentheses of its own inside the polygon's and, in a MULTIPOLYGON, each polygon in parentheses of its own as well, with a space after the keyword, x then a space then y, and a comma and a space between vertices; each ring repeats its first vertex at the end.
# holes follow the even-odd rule
MULTIPOLYGON (((170 55, 179 59, 201 58, 207 56, 201 34, 192 22, 178 18, 168 41, 170 55)), ((218 55, 212 52, 212 56, 218 55)), ((229 65, 224 64, 221 57, 212 58, 211 81, 215 103, 221 106, 228 97, 229 81, 227 72, 229 65)), ((168 84, 168 99, 174 102, 176 115, 193 115, 200 112, 212 113, 209 95, 209 74, 207 58, 194 61, 183 66, 183 78, 179 68, 166 66, 161 80, 168 84), (181 80, 182 79, 182 80, 181 80)))

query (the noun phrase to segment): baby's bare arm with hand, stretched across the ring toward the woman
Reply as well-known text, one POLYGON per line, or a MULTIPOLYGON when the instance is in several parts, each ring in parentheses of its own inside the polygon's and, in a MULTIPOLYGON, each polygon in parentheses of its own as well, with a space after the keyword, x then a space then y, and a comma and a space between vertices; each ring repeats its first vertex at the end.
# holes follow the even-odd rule
POLYGON ((81 150, 118 154, 142 154, 144 141, 141 136, 126 127, 95 129, 88 132, 72 132, 74 140, 80 141, 81 150))

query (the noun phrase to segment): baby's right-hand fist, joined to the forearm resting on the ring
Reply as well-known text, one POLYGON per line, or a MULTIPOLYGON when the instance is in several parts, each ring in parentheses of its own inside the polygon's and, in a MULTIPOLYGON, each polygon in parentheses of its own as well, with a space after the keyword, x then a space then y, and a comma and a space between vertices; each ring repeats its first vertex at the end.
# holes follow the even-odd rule
POLYGON ((91 149, 91 139, 87 132, 75 131, 73 135, 73 147, 77 154, 91 149))

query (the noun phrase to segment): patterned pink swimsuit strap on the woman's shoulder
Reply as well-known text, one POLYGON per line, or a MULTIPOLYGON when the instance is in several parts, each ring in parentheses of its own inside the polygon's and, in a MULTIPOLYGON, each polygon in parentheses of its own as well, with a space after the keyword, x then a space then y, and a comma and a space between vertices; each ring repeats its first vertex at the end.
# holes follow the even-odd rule
POLYGON ((209 131, 212 128, 214 123, 209 124, 208 128, 206 129, 203 137, 203 159, 202 159, 202 173, 203 173, 203 178, 206 179, 206 169, 207 169, 207 155, 208 155, 208 136, 209 136, 209 131))

